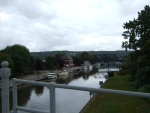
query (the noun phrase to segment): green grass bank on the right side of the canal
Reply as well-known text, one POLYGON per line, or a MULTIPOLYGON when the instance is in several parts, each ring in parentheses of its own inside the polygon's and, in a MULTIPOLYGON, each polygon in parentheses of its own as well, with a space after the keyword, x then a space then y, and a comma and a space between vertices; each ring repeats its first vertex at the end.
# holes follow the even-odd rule
MULTIPOLYGON (((128 76, 109 78, 102 88, 137 91, 128 76)), ((133 96, 100 93, 94 97, 83 113, 150 113, 150 100, 133 96)))

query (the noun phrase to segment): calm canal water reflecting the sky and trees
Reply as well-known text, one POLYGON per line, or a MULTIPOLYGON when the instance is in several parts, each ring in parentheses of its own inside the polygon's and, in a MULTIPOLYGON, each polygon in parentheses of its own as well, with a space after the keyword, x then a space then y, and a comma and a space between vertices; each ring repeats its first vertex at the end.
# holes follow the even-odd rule
MULTIPOLYGON (((70 75, 67 79, 58 79, 58 84, 100 88, 99 81, 105 82, 107 69, 96 73, 80 73, 70 75)), ((51 82, 51 80, 43 80, 51 82)), ((10 92, 11 95, 11 92, 10 92)), ((90 93, 85 91, 56 89, 56 113, 79 113, 90 99, 90 93)), ((10 99, 11 101, 12 99, 10 99)), ((10 102, 11 104, 12 102, 10 102)), ((1 103, 0 103, 1 104, 1 103)), ((32 109, 50 111, 49 89, 42 86, 21 86, 18 88, 18 105, 32 109)), ((12 105, 10 105, 12 106, 12 105)), ((12 109, 12 107, 11 107, 12 109)), ((26 113, 19 111, 18 113, 26 113)))

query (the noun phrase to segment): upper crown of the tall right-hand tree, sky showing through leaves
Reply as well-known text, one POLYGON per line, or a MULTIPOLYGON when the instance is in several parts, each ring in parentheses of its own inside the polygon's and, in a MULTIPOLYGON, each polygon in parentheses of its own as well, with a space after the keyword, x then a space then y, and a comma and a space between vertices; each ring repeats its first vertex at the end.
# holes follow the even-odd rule
POLYGON ((138 18, 124 23, 123 28, 126 31, 122 36, 126 41, 122 43, 122 47, 141 49, 150 40, 150 7, 146 5, 144 10, 138 12, 138 18))

